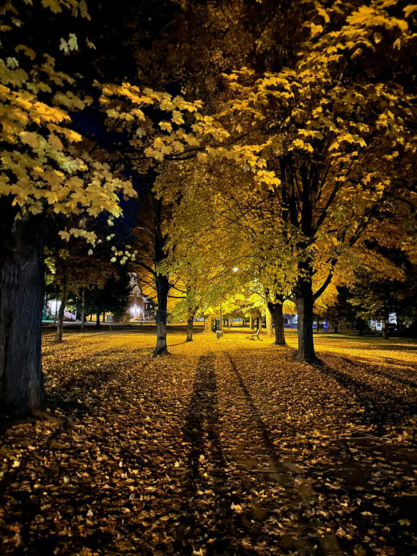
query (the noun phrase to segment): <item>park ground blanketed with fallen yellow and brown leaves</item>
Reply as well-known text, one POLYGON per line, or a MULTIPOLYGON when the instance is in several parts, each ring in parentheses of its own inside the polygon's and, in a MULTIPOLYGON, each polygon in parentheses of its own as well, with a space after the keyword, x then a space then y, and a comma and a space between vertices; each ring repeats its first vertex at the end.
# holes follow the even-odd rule
POLYGON ((13 555, 417 554, 417 344, 44 335, 49 418, 0 445, 13 555))

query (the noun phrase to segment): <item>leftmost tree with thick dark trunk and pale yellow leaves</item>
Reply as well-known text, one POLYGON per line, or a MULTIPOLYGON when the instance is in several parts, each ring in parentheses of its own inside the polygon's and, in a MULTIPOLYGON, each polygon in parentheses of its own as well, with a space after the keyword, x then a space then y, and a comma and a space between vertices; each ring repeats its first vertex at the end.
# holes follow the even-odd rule
MULTIPOLYGON (((65 66, 64 54, 77 49, 76 37, 63 38, 61 51, 56 44, 54 58, 42 46, 41 35, 34 29, 31 33, 31 22, 58 27, 55 14, 69 4, 52 0, 44 5, 53 13, 45 8, 48 15, 41 21, 31 17, 32 8, 18 10, 13 2, 1 13, 0 406, 8 415, 44 404, 40 322, 49 215, 84 210, 92 216, 102 211, 117 216, 117 193, 133 193, 128 182, 115 179, 108 165, 84 151, 81 135, 72 129, 70 112, 90 99, 77 95, 74 77, 58 67, 56 58, 65 66), (34 48, 24 44, 31 37, 34 48)), ((71 6, 73 15, 88 17, 85 2, 75 0, 71 6)), ((63 33, 66 21, 61 20, 63 33)), ((94 240, 88 230, 80 233, 94 240)), ((61 234, 69 237, 70 230, 61 234)))

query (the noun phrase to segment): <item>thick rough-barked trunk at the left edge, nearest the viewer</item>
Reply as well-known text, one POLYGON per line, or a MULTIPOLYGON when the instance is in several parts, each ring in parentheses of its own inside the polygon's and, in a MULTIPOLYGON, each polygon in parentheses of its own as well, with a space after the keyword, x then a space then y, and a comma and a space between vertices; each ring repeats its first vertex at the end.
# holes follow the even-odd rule
POLYGON ((37 215, 14 225, 6 198, 0 213, 0 414, 16 416, 44 407, 44 221, 37 215))

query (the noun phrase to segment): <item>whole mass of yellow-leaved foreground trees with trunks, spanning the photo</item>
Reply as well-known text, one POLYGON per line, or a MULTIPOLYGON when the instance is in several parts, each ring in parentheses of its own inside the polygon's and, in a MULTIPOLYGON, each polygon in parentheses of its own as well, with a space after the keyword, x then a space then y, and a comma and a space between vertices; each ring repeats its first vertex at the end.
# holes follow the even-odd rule
MULTIPOLYGON (((156 291, 156 354, 168 295, 186 299, 189 318, 209 315, 233 284, 264 297, 276 331, 295 303, 298 358, 314 361, 314 302, 363 265, 393 275, 387 251, 415 263, 416 6, 129 3, 108 44, 88 38, 84 1, 42 6, 10 2, 1 15, 6 412, 43 404, 38 317, 56 215, 61 238, 95 252, 88 218, 112 220, 138 196, 136 270, 156 291)), ((105 28, 114 6, 90 8, 105 28)), ((111 259, 130 256, 115 247, 111 259)))

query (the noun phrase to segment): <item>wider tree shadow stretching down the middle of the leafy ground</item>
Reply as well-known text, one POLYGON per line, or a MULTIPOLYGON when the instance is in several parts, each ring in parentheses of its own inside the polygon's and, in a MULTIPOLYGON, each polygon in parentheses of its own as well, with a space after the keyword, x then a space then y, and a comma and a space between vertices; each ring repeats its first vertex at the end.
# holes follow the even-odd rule
POLYGON ((179 553, 188 555, 207 544, 207 555, 231 555, 233 519, 228 496, 226 460, 220 440, 220 418, 215 355, 199 358, 193 397, 183 426, 187 444, 186 481, 181 499, 187 523, 179 528, 174 543, 179 553), (203 493, 206 491, 204 497, 203 493))

